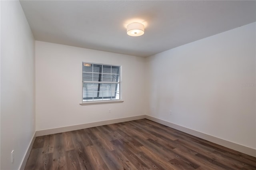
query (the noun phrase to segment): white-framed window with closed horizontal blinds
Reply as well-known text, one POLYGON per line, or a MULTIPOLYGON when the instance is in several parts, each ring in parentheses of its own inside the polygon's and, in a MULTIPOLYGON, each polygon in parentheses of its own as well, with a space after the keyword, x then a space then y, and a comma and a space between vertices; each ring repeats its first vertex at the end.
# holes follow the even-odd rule
POLYGON ((120 66, 83 62, 82 101, 120 99, 120 66))

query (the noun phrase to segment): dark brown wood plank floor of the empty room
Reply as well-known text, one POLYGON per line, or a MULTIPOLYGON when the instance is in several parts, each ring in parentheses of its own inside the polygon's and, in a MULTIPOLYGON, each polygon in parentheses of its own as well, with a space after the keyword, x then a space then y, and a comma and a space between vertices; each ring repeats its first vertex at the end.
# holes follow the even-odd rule
POLYGON ((25 170, 256 170, 256 158, 147 119, 36 137, 25 170))

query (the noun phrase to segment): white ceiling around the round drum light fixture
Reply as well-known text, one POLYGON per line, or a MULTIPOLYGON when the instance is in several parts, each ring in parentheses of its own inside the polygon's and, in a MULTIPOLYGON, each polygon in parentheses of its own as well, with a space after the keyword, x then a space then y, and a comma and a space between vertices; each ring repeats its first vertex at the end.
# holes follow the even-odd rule
POLYGON ((256 21, 256 1, 20 1, 34 38, 147 57, 256 21), (126 25, 142 22, 130 37, 126 25))

